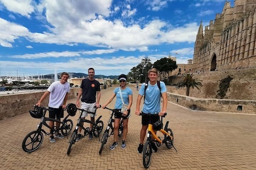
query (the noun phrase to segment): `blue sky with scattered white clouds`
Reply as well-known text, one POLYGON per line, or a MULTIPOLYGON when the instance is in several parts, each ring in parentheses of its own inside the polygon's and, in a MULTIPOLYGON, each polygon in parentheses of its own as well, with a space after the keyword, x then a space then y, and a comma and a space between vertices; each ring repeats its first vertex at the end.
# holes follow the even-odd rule
MULTIPOLYGON (((0 0, 0 76, 127 74, 145 57, 193 59, 226 0, 0 0)), ((233 0, 230 0, 233 7, 233 0)))

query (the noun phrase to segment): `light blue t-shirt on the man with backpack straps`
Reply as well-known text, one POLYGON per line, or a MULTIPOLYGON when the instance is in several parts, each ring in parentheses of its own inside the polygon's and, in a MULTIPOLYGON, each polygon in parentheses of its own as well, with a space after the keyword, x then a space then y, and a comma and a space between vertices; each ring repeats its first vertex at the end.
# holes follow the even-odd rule
MULTIPOLYGON (((160 81, 161 94, 166 92, 166 86, 163 81, 160 81)), ((139 94, 144 95, 145 83, 141 85, 139 94)), ((157 86, 157 83, 151 85, 148 83, 148 88, 146 89, 146 97, 143 104, 142 112, 145 114, 158 114, 161 110, 161 95, 160 89, 157 86)))

